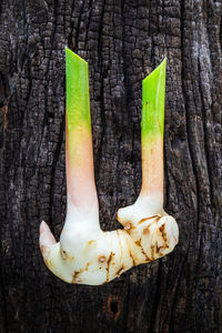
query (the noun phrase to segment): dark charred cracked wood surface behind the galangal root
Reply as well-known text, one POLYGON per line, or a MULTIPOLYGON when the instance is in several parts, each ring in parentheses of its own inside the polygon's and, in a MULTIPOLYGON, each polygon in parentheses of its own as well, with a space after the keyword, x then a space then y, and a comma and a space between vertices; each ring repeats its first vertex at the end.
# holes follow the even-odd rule
POLYGON ((0 332, 222 332, 221 2, 1 0, 0 332), (64 46, 89 62, 102 228, 141 185, 142 79, 168 57, 165 209, 180 243, 104 286, 43 264, 65 216, 64 46))

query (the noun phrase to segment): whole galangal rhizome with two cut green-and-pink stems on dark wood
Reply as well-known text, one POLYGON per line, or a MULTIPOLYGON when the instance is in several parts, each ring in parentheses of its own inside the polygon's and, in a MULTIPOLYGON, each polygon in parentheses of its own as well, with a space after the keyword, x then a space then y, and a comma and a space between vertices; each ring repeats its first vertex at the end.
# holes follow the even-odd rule
POLYGON ((99 285, 132 266, 170 253, 178 243, 175 220, 163 210, 165 59, 142 82, 142 186, 134 204, 117 214, 123 230, 103 232, 94 183, 88 63, 65 49, 67 218, 57 243, 40 224, 46 265, 69 283, 99 285))

